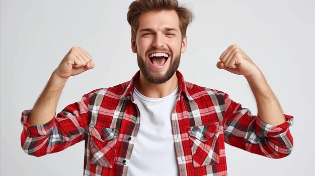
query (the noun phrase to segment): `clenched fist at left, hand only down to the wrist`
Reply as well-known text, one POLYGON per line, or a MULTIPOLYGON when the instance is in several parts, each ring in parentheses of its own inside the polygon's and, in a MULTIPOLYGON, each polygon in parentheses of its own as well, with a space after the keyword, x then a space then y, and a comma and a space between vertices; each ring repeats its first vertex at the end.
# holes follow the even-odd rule
POLYGON ((92 57, 80 47, 72 47, 55 70, 61 78, 69 78, 94 68, 92 57))

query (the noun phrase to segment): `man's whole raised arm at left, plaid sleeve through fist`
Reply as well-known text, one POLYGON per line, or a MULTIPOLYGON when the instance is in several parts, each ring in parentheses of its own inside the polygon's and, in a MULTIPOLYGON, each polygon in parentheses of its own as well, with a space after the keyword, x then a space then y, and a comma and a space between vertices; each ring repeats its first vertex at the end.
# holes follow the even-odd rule
POLYGON ((93 67, 91 56, 78 47, 72 47, 63 58, 33 109, 22 112, 21 146, 26 153, 42 156, 84 139, 89 99, 96 90, 84 95, 81 101, 69 104, 56 116, 55 112, 66 80, 93 67))

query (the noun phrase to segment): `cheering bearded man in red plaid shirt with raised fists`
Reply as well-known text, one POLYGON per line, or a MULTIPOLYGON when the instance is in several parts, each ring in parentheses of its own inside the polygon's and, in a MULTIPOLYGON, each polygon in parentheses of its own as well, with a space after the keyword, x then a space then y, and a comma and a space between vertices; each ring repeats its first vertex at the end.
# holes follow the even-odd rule
POLYGON ((24 151, 42 156, 85 140, 84 175, 227 175, 224 141, 271 158, 289 155, 293 117, 283 114, 238 45, 216 66, 246 77, 258 116, 226 93, 184 81, 177 69, 192 17, 176 0, 133 2, 127 19, 140 71, 128 82, 85 94, 54 117, 66 80, 94 68, 86 51, 72 47, 33 109, 22 113, 24 151))

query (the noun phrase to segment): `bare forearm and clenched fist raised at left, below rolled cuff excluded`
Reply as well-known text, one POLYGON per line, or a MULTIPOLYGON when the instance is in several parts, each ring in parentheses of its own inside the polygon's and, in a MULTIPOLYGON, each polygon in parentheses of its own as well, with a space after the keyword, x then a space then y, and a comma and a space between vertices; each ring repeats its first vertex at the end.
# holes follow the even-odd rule
POLYGON ((27 122, 41 125, 50 121, 56 112, 57 103, 66 80, 70 76, 94 68, 92 57, 80 47, 72 47, 58 68, 52 73, 45 89, 36 101, 27 122))

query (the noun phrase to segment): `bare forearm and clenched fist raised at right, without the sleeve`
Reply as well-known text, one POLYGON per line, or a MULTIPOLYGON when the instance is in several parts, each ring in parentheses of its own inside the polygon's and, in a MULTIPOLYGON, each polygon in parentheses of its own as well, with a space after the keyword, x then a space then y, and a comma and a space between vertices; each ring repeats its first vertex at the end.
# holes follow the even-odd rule
POLYGON ((238 45, 231 45, 221 55, 217 67, 245 76, 256 98, 258 116, 261 120, 274 126, 286 121, 280 103, 268 86, 263 73, 238 45))

